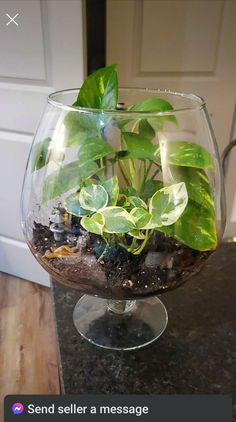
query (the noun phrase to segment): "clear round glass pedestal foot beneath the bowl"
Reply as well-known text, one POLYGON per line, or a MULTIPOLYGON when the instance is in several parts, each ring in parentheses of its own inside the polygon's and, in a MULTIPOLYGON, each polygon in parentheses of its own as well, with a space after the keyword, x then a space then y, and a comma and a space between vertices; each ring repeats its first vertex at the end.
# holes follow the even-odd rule
POLYGON ((96 346, 134 350, 160 337, 168 315, 157 297, 135 301, 84 295, 75 306, 73 320, 78 332, 96 346))

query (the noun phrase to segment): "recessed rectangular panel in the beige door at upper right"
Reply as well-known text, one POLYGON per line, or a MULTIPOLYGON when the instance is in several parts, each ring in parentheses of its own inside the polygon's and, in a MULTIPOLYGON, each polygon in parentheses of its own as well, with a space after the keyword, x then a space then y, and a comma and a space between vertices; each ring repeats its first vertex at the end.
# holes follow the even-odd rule
MULTIPOLYGON (((222 1, 142 1, 140 72, 214 72, 222 1), (201 48, 199 48, 201 46, 201 48)), ((137 28, 137 27, 136 27, 137 28)))

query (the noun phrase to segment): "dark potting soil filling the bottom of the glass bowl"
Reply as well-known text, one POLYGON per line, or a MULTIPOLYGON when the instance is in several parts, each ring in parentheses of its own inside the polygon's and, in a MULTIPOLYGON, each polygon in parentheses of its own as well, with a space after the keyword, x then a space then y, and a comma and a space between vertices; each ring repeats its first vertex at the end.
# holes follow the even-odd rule
POLYGON ((49 227, 35 223, 30 248, 54 279, 84 293, 112 299, 131 299, 173 289, 200 271, 212 252, 199 252, 156 232, 139 255, 119 245, 106 246, 100 236, 79 225, 56 242, 49 227), (61 246, 72 252, 50 253, 61 246), (72 249, 73 248, 73 249, 72 249))

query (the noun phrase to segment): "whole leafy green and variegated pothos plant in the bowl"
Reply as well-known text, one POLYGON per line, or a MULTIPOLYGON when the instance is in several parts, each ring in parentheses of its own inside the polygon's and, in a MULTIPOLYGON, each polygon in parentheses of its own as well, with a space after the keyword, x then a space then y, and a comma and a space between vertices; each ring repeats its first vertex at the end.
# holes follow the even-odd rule
MULTIPOLYGON (((145 248, 154 231, 199 251, 214 249, 215 210, 206 173, 214 170, 210 153, 185 139, 170 142, 165 162, 175 183, 163 186, 157 140, 167 121, 178 125, 171 114, 172 105, 161 98, 145 99, 129 107, 127 119, 127 114, 122 118, 122 112, 119 117, 106 113, 117 110, 117 104, 116 65, 99 69, 85 80, 73 104, 79 111, 68 112, 63 122, 66 148, 77 148, 78 159, 61 163, 47 176, 42 201, 68 192, 64 207, 80 218, 87 232, 135 255, 145 248), (82 112, 84 108, 94 113, 82 112), (150 112, 166 111, 170 114, 149 117, 150 112), (146 112, 147 116, 137 118, 133 112, 146 112), (108 142, 111 126, 119 131, 119 149, 108 142), (108 166, 110 178, 106 177, 108 166)), ((35 146, 33 171, 50 162, 50 143, 47 138, 35 146)))

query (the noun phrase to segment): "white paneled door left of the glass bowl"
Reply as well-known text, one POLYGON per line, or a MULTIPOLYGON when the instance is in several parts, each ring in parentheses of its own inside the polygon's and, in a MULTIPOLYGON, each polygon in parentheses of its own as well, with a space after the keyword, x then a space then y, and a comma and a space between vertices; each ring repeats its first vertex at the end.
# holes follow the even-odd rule
POLYGON ((82 34, 81 0, 0 1, 0 271, 45 285, 22 235, 21 187, 48 94, 83 82, 82 34))

